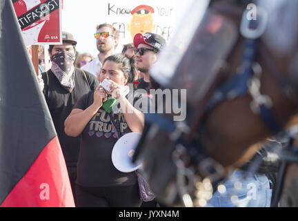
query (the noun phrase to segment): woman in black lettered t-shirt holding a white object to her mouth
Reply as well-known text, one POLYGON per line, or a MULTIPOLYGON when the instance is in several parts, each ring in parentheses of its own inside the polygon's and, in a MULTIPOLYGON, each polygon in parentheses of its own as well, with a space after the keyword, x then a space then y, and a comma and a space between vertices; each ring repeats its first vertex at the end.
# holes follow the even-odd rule
MULTIPOLYGON (((141 205, 137 175, 133 171, 118 171, 111 159, 112 148, 122 135, 143 131, 144 115, 130 104, 126 96, 125 86, 132 84, 136 77, 133 59, 121 54, 107 57, 97 75, 102 84, 95 91, 83 95, 65 121, 67 135, 81 135, 77 206, 141 205), (113 111, 115 107, 119 107, 119 113, 113 111)), ((133 104, 139 99, 142 99, 141 94, 133 104)))

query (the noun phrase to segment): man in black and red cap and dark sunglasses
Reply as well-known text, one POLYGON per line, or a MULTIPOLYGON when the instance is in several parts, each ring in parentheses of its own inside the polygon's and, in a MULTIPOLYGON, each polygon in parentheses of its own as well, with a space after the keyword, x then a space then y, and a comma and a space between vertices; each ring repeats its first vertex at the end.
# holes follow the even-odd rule
POLYGON ((139 88, 146 89, 150 82, 150 67, 157 60, 161 48, 166 46, 166 40, 155 33, 147 32, 145 35, 139 33, 135 35, 134 45, 137 68, 143 73, 143 78, 139 80, 139 88))

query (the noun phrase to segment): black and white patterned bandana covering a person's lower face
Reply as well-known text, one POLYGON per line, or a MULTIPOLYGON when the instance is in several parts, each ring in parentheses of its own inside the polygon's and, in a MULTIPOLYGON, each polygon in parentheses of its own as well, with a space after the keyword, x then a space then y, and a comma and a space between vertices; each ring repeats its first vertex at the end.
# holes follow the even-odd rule
POLYGON ((69 92, 72 92, 74 88, 74 59, 74 53, 66 50, 57 52, 50 57, 52 72, 59 80, 61 86, 69 92))

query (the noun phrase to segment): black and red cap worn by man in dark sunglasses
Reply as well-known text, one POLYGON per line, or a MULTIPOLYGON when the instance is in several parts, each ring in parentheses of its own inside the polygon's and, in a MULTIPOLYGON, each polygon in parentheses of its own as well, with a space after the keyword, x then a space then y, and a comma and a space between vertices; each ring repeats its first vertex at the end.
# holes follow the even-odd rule
POLYGON ((157 35, 155 33, 146 32, 145 35, 142 35, 141 33, 139 33, 135 35, 134 45, 137 48, 139 44, 147 44, 152 48, 161 50, 161 48, 166 45, 166 40, 163 39, 163 37, 161 37, 160 35, 157 35))

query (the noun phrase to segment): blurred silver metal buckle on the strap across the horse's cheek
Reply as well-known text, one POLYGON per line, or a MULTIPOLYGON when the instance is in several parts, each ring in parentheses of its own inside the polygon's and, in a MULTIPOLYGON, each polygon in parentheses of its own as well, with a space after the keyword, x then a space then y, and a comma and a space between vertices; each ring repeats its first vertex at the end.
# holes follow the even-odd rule
POLYGON ((259 114, 260 107, 262 105, 266 106, 266 108, 272 108, 272 100, 268 95, 261 95, 261 66, 255 62, 252 66, 252 70, 254 75, 248 82, 248 92, 252 96, 252 102, 250 103, 250 108, 253 113, 259 114))

